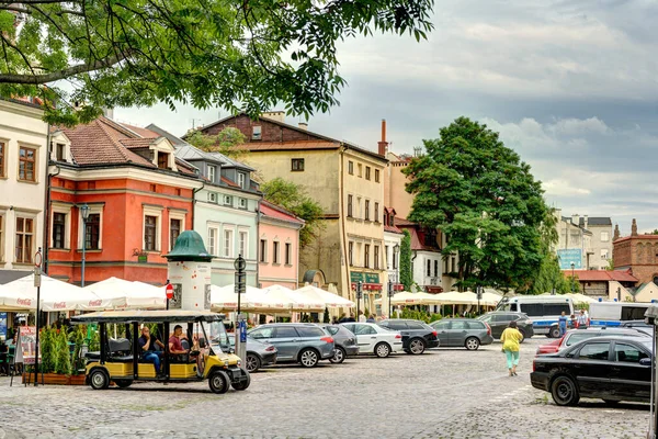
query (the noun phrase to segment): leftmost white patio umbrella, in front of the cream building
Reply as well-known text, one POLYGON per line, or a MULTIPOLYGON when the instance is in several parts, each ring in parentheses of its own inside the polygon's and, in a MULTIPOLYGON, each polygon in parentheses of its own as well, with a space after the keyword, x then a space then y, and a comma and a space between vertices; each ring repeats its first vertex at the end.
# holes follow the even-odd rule
MULTIPOLYGON (((91 291, 45 274, 42 274, 41 278, 41 309, 44 312, 93 311, 112 307, 112 301, 102 299, 91 291)), ((4 284, 4 289, 9 290, 14 297, 31 299, 30 309, 36 309, 34 274, 9 282, 4 284)), ((18 303, 18 299, 14 303, 18 303)))

